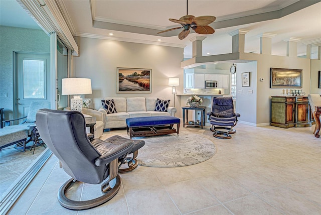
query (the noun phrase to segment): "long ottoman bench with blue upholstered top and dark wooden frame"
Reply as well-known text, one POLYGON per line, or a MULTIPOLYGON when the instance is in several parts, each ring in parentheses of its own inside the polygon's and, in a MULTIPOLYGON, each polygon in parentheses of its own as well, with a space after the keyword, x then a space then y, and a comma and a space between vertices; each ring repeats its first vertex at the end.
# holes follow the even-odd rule
POLYGON ((179 135, 181 120, 177 117, 134 117, 126 119, 127 134, 130 138, 177 133, 179 135), (173 126, 177 125, 177 129, 173 126))

